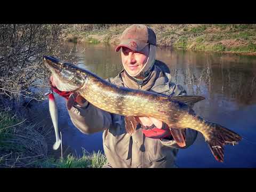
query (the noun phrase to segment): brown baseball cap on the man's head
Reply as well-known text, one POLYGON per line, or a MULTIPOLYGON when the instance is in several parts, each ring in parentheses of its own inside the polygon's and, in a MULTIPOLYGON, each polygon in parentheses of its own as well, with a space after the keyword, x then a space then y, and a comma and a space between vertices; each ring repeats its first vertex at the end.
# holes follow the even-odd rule
POLYGON ((141 51, 148 44, 156 46, 155 32, 145 25, 134 24, 124 30, 120 37, 120 44, 116 47, 116 52, 122 46, 133 51, 141 51))

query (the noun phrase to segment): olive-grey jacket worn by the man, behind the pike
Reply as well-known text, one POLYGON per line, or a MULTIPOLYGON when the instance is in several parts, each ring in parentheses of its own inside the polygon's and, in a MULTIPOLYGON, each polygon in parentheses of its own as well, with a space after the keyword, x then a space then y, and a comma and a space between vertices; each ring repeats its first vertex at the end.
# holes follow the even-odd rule
MULTIPOLYGON (((170 74, 164 74, 149 91, 170 97, 186 95, 182 86, 171 82, 170 74)), ((107 81, 124 86, 121 74, 107 81)), ((69 115, 77 129, 85 134, 103 131, 103 149, 108 162, 103 167, 175 167, 178 150, 182 147, 174 140, 145 137, 140 127, 130 136, 125 130, 124 116, 108 113, 90 103, 84 107, 74 105, 69 115)), ((186 129, 186 147, 183 148, 192 145, 196 137, 197 131, 186 129)))

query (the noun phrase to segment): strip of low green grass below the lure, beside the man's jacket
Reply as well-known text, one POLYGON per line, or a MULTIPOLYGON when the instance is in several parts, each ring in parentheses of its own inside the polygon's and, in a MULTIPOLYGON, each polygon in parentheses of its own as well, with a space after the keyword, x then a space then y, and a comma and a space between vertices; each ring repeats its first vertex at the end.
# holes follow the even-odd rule
POLYGON ((83 150, 81 158, 74 155, 68 155, 61 159, 49 158, 46 161, 40 161, 35 164, 36 167, 54 167, 54 168, 101 168, 107 162, 105 155, 93 152, 93 154, 86 153, 83 150))

